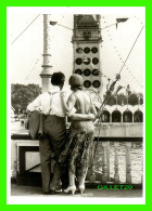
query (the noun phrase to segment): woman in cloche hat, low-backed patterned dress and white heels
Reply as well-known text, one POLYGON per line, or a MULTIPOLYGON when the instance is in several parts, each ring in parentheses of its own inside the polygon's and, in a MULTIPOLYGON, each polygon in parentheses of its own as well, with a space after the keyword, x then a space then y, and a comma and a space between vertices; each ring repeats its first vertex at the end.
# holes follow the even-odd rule
POLYGON ((71 117, 69 136, 65 148, 60 155, 59 161, 62 168, 68 166, 69 185, 64 193, 74 195, 76 190, 75 176, 78 177, 79 190, 85 190, 85 179, 88 171, 90 147, 93 143, 93 122, 97 115, 90 96, 83 91, 84 80, 79 75, 69 78, 69 85, 73 93, 69 95, 67 104, 64 101, 64 108, 71 117), (81 114, 83 117, 75 118, 74 113, 81 114))

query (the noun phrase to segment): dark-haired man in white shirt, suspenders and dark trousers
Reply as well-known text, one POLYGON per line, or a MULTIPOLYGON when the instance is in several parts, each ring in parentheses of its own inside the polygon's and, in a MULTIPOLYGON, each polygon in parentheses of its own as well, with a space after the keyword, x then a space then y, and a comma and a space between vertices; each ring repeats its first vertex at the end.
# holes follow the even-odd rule
MULTIPOLYGON (((64 92, 61 92, 64 85, 64 74, 54 72, 51 78, 51 91, 40 94, 33 103, 27 106, 28 111, 40 109, 43 114, 43 137, 39 141, 39 151, 41 162, 42 189, 45 194, 51 194, 50 180, 52 153, 54 156, 55 164, 53 170, 51 189, 53 189, 54 192, 61 189, 60 181, 62 172, 58 162, 58 157, 63 150, 66 142, 65 116, 67 115, 64 110, 61 97, 61 95, 64 94, 64 92)), ((79 118, 83 118, 83 115, 74 114, 74 111, 71 113, 71 115, 75 116, 75 118, 78 118, 78 120, 79 118)), ((86 116, 84 118, 86 119, 86 116)), ((92 117, 88 115, 88 118, 90 119, 92 117)), ((68 174, 66 176, 68 176, 68 174)), ((67 181, 67 177, 65 179, 65 175, 63 177, 65 181, 67 181)), ((62 185, 68 185, 68 181, 66 183, 67 184, 62 185)))

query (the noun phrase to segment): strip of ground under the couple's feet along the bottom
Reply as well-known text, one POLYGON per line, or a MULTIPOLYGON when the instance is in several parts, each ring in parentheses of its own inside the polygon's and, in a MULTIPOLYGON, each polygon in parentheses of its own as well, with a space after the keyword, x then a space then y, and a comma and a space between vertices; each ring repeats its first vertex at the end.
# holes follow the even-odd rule
MULTIPOLYGON (((34 196, 34 197, 46 197, 42 194, 41 187, 35 186, 18 186, 16 184, 11 185, 11 196, 34 196)), ((58 197, 103 197, 103 198, 136 198, 142 197, 142 189, 96 189, 86 188, 85 193, 80 195, 78 192, 75 196, 71 194, 58 194, 58 197)), ((47 197, 56 197, 56 195, 49 195, 47 197)))

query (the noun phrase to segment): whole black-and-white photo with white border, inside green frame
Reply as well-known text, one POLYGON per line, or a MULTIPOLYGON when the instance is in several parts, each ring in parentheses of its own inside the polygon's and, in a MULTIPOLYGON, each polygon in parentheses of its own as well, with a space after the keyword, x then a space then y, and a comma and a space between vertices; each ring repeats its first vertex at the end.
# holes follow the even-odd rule
POLYGON ((145 8, 8 6, 7 57, 8 203, 144 205, 145 8))

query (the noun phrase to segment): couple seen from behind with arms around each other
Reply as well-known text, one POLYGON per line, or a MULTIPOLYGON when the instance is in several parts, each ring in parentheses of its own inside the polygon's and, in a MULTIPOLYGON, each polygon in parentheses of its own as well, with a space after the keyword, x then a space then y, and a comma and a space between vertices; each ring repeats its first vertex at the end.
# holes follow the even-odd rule
POLYGON ((50 92, 40 94, 27 106, 27 110, 41 109, 43 114, 43 135, 39 141, 42 189, 45 194, 75 194, 75 177, 78 179, 80 193, 85 190, 85 179, 88 171, 89 153, 93 143, 93 123, 97 115, 91 98, 84 93, 83 77, 72 75, 68 83, 73 91, 66 101, 62 91, 65 76, 54 72, 51 78, 50 92), (71 118, 68 136, 65 117, 71 118), (51 180, 51 159, 54 159, 51 180))

